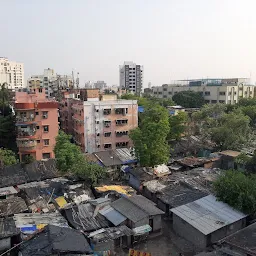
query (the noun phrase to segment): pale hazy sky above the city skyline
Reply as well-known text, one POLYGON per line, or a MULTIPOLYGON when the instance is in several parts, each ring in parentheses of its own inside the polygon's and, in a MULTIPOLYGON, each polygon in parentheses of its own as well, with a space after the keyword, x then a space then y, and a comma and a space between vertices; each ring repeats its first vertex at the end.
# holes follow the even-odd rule
POLYGON ((119 84, 144 65, 144 87, 170 80, 256 80, 256 0, 0 0, 0 56, 25 76, 53 68, 80 83, 119 84))

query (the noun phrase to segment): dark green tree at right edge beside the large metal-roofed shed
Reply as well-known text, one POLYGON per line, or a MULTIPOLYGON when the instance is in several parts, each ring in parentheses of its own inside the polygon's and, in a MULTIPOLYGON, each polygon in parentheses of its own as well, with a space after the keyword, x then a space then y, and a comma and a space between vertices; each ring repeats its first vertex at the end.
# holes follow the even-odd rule
POLYGON ((214 182, 219 200, 247 214, 256 212, 256 176, 226 171, 214 182))

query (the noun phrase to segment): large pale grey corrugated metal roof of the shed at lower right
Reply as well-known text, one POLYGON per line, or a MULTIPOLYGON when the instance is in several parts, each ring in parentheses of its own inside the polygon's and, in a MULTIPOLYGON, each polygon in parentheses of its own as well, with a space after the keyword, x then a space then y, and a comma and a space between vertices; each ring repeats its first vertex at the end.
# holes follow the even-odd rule
POLYGON ((204 235, 246 217, 229 205, 217 201, 213 195, 176 207, 171 211, 204 235))

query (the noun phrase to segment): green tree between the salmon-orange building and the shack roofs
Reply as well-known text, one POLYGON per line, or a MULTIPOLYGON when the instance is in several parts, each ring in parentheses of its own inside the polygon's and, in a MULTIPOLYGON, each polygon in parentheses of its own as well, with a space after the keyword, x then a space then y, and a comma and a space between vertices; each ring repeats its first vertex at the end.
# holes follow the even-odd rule
POLYGON ((56 138, 54 148, 57 167, 61 172, 74 173, 78 176, 97 183, 98 179, 104 177, 105 170, 101 166, 89 163, 80 148, 70 142, 71 136, 60 131, 56 138))

